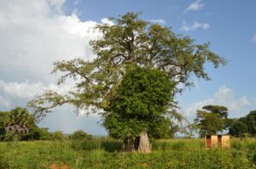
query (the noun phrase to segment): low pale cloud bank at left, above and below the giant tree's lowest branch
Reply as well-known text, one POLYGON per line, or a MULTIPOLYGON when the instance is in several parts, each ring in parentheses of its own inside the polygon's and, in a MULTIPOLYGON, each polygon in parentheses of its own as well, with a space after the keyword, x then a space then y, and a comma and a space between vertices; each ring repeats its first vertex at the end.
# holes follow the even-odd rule
MULTIPOLYGON (((1 110, 11 110, 16 106, 26 106, 26 102, 31 100, 34 95, 42 93, 44 90, 54 90, 58 93, 67 93, 69 85, 57 86, 53 83, 44 84, 43 82, 3 82, 0 81, 0 107, 1 110)), ((38 124, 40 127, 48 127, 50 132, 56 130, 72 133, 76 130, 85 129, 91 134, 106 135, 107 132, 102 128, 100 116, 90 114, 90 110, 80 110, 79 115, 71 105, 64 105, 54 109, 53 114, 48 114, 44 121, 38 124), (84 116, 86 115, 86 118, 84 116)))

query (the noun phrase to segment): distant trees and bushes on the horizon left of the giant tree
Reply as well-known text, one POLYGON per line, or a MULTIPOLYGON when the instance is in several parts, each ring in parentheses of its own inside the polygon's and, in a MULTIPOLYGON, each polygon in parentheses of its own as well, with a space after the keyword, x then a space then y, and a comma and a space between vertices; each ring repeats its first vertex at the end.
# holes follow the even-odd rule
POLYGON ((0 111, 0 141, 91 139, 82 130, 68 137, 63 132, 49 132, 48 128, 38 127, 34 116, 28 110, 16 107, 10 111, 0 111))

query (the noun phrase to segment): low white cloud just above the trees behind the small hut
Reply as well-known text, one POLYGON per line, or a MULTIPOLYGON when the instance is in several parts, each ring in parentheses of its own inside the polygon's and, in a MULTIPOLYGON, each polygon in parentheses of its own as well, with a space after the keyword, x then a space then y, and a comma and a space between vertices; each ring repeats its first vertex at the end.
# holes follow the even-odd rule
POLYGON ((189 118, 194 118, 196 110, 201 110, 203 106, 208 104, 224 105, 229 109, 231 117, 239 117, 241 116, 241 110, 253 106, 253 104, 256 104, 256 100, 253 98, 249 99, 246 96, 236 98, 236 95, 231 88, 223 86, 218 88, 218 91, 214 93, 212 98, 190 104, 189 107, 183 110, 184 114, 189 118))

